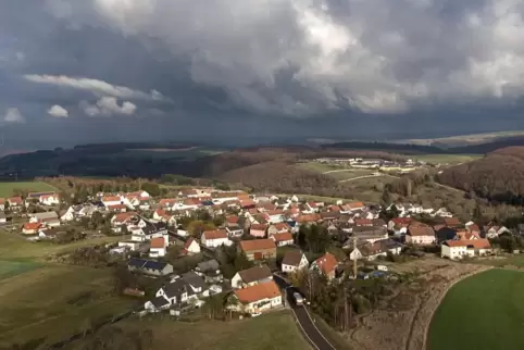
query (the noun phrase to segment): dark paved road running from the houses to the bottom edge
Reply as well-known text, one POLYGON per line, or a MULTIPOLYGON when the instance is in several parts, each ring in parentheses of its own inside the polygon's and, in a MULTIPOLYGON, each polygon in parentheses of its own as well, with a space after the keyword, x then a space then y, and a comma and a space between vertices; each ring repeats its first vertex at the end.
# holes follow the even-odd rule
POLYGON ((273 279, 280 288, 284 288, 286 290, 287 302, 291 308, 292 312, 295 313, 295 317, 297 318, 302 333, 304 334, 305 338, 311 343, 313 349, 336 350, 322 335, 319 328, 316 328, 305 307, 297 307, 295 304, 295 300, 292 298, 292 293, 295 291, 294 287, 276 274, 273 275, 273 279))

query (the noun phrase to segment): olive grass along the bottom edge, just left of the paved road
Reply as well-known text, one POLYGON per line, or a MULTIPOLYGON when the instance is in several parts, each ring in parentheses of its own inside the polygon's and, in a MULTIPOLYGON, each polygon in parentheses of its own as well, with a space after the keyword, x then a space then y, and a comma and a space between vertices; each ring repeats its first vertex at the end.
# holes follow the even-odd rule
MULTIPOLYGON (((150 348, 159 350, 174 347, 179 350, 310 349, 291 314, 287 311, 232 322, 199 321, 190 323, 175 322, 169 317, 147 317, 140 321, 129 318, 108 327, 118 327, 123 332, 151 330, 153 336, 150 348)), ((67 349, 85 349, 86 342, 93 341, 96 336, 97 334, 75 341, 67 349)), ((113 345, 113 348, 120 349, 116 345, 113 345)))

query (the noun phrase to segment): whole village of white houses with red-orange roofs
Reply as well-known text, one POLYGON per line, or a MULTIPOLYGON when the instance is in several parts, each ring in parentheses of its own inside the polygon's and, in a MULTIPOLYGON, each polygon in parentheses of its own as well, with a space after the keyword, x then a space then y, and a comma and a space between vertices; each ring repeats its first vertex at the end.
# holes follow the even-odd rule
MULTIPOLYGON (((90 235, 122 235, 122 240, 109 247, 109 254, 127 259, 133 273, 169 280, 145 302, 144 312, 169 310, 173 315, 201 307, 210 296, 225 295, 229 310, 258 316, 288 303, 283 292, 290 284, 283 287, 277 282, 289 283, 301 270, 315 271, 327 280, 341 279, 348 271, 352 278, 384 277, 388 268, 383 262, 395 262, 396 255, 423 259, 425 252, 438 250, 440 258, 450 260, 485 257, 494 254, 490 239, 513 235, 506 227, 461 223, 445 208, 415 203, 380 208, 214 188, 183 189, 177 195, 152 198, 145 190, 99 192, 86 203, 57 210, 61 204, 58 193, 34 192, 1 200, 0 209, 9 213, 10 221, 2 214, 0 222, 12 235, 38 243, 64 235, 83 239, 87 227, 74 234, 66 227, 93 217, 105 220, 109 232, 91 229, 90 235), (202 224, 202 216, 216 225, 202 224), (416 217, 428 217, 434 224, 416 217), (17 220, 26 222, 16 225, 17 220), (304 237, 311 227, 320 228, 316 237, 304 237), (226 278, 219 259, 225 248, 249 261, 250 267, 229 272, 226 278), (203 259, 190 271, 176 274, 165 260, 174 249, 180 259, 197 254, 203 259), (360 268, 369 264, 375 271, 360 268)), ((144 295, 133 288, 127 292, 144 295)))

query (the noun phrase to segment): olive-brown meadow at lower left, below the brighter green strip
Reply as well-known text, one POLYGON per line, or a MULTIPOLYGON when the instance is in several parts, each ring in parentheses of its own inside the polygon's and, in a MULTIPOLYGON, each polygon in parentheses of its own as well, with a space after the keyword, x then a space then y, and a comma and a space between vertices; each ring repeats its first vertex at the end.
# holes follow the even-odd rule
POLYGON ((109 268, 47 265, 0 280, 0 349, 33 339, 48 343, 132 308, 112 295, 109 268))

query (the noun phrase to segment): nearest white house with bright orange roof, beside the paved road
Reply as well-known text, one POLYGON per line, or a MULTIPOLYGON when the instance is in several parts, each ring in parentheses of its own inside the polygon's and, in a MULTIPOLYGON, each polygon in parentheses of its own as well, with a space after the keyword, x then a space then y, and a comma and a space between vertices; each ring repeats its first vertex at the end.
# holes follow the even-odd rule
POLYGON ((282 293, 274 280, 236 289, 230 298, 237 300, 236 304, 227 308, 251 314, 282 307, 282 293))

